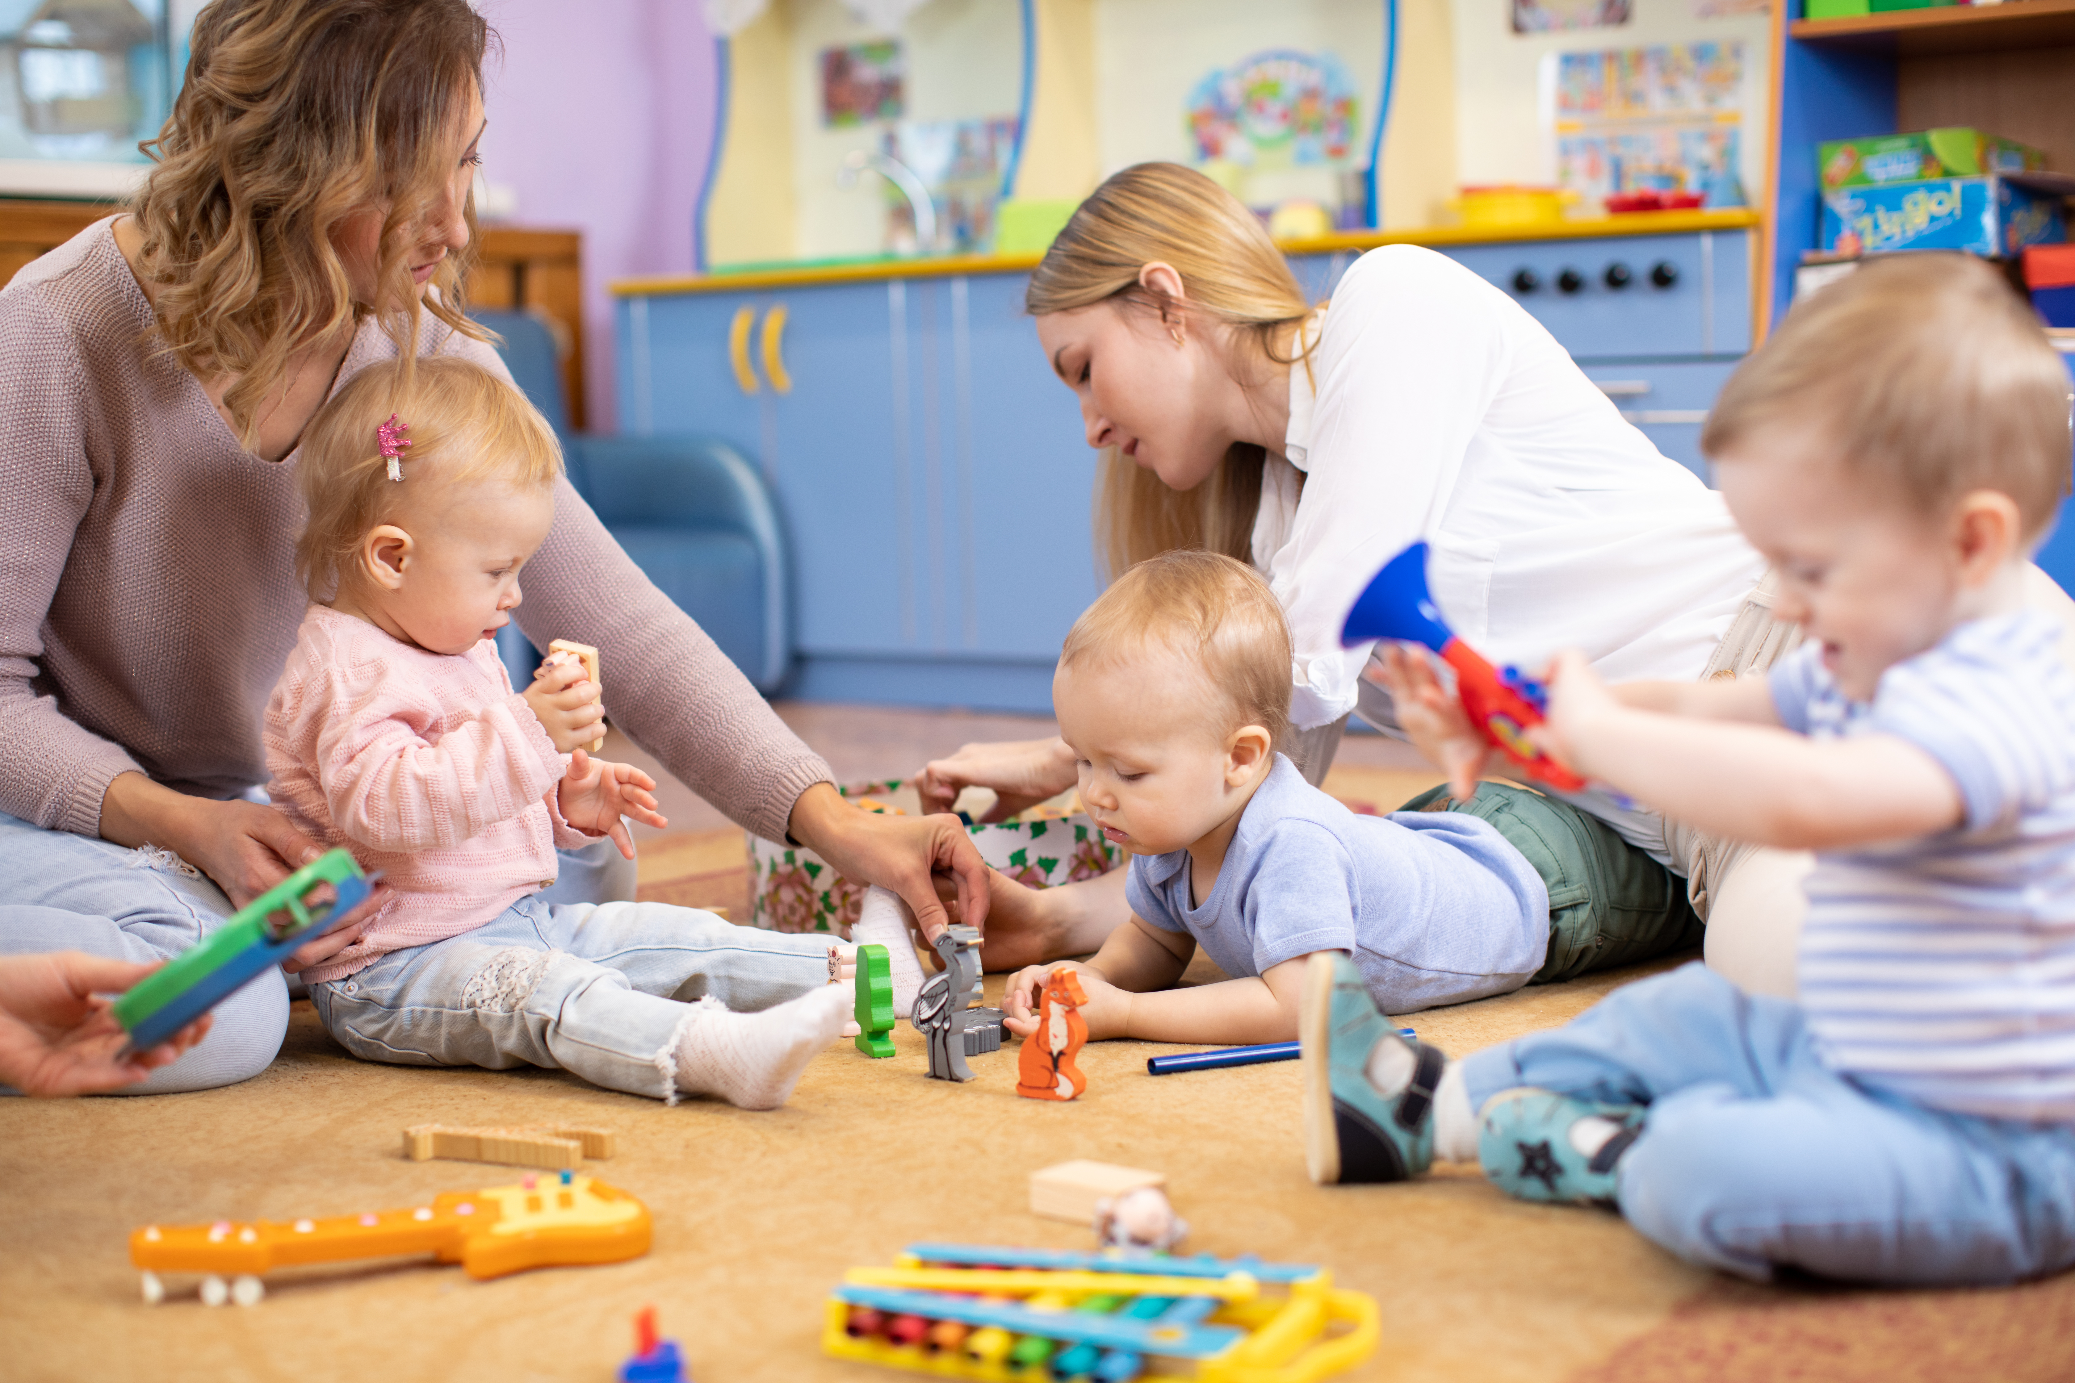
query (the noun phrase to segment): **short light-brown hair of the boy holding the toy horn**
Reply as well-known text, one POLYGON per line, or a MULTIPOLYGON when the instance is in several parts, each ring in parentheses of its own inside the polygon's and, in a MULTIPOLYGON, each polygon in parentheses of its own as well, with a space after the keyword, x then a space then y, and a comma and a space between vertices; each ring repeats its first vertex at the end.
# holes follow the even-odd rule
POLYGON ((1722 386, 1699 444, 1720 458, 1770 425, 1820 427, 1872 491, 1938 516, 1996 489, 2031 541, 2069 493, 2069 402, 2067 365, 2009 280, 1919 251, 1797 303, 1722 386))

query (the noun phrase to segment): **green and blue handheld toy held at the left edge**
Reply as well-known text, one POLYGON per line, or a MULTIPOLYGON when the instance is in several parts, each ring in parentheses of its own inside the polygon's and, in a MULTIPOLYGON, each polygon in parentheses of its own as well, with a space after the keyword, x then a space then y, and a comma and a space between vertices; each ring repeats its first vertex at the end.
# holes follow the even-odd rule
POLYGON ((371 890, 374 879, 344 850, 303 865, 114 1001, 131 1049, 168 1041, 295 948, 347 921, 371 890))

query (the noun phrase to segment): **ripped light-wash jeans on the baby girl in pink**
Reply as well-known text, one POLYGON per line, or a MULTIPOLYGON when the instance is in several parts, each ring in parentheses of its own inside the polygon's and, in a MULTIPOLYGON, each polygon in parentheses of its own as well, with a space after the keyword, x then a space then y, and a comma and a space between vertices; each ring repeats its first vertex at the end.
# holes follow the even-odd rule
POLYGON ((662 902, 550 906, 535 894, 473 931, 311 985, 309 997, 367 1062, 548 1066, 674 1099, 691 1004, 755 1012, 795 999, 828 983, 834 939, 662 902))

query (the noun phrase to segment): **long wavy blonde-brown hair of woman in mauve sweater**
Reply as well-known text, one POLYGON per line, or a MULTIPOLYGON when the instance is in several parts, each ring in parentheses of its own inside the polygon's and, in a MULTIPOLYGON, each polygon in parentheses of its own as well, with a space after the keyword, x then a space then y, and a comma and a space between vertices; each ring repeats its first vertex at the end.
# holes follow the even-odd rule
MULTIPOLYGON (((403 357, 421 311, 488 338, 463 315, 467 265, 448 255, 421 294, 407 255, 492 37, 467 0, 216 0, 195 19, 129 211, 164 348, 201 379, 237 375, 224 406, 245 446, 288 359, 374 311, 332 245, 357 211, 384 207, 378 301, 409 305, 384 321, 403 357)), ((473 245, 473 199, 465 216, 473 245)))

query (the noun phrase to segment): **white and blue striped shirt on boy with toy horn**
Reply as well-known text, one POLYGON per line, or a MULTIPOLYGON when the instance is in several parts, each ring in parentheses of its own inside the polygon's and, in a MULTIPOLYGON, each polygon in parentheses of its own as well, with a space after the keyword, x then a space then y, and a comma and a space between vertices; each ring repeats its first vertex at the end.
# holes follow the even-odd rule
POLYGON ((1830 850, 1807 879, 1801 1006, 1822 1060, 1936 1109, 2075 1122, 2075 674, 2036 612, 1961 624, 1847 701, 1803 645, 1772 705, 1814 738, 1936 759, 1961 825, 1830 850))

